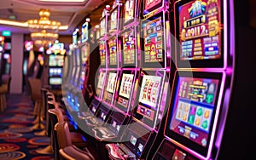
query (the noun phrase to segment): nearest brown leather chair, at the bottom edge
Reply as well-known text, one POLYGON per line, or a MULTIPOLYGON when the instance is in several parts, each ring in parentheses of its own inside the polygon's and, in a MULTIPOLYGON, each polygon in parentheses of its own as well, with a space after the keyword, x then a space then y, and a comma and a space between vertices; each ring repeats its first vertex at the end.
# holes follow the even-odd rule
POLYGON ((72 144, 72 140, 70 139, 71 134, 68 129, 67 122, 57 123, 55 125, 55 129, 57 132, 57 139, 59 141, 60 155, 62 159, 95 160, 87 148, 81 150, 72 144))

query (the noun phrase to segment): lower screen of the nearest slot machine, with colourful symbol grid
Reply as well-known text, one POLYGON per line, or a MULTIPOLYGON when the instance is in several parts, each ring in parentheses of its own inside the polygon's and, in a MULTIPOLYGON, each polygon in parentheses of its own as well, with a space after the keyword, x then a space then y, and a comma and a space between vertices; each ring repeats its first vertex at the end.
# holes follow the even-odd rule
POLYGON ((212 78, 179 77, 170 130, 206 147, 218 83, 212 78))

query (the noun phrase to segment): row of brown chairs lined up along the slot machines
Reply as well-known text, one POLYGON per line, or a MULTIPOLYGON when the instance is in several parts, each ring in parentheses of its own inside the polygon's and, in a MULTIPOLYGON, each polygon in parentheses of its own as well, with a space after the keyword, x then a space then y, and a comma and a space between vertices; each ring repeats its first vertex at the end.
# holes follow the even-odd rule
POLYGON ((38 78, 28 79, 32 101, 34 101, 35 125, 32 129, 43 129, 35 134, 50 137, 50 145, 38 149, 41 154, 53 153, 55 159, 88 159, 95 158, 86 148, 88 141, 78 129, 73 127, 65 106, 58 101, 50 89, 42 88, 38 78), (45 122, 45 123, 44 123, 45 122))

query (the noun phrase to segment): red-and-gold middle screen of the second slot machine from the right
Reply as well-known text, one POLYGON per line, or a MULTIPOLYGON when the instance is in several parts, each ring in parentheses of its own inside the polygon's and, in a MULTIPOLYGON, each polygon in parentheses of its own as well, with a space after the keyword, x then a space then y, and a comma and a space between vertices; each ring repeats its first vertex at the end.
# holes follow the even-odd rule
POLYGON ((144 63, 163 62, 162 18, 143 22, 144 63))

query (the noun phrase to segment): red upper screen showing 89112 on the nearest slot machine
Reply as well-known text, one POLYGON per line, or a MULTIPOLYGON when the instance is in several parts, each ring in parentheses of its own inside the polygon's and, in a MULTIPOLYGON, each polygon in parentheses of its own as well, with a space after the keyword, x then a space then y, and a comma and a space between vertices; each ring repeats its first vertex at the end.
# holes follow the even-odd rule
POLYGON ((180 60, 221 59, 220 0, 194 0, 178 7, 180 60))

